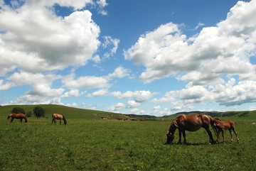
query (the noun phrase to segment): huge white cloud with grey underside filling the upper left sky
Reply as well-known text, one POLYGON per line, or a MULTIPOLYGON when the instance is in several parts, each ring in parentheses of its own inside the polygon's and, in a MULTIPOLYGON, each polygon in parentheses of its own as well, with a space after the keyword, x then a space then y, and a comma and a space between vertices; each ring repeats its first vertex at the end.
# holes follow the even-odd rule
MULTIPOLYGON (((89 1, 60 1, 75 9, 89 1)), ((64 18, 56 16, 53 1, 25 1, 18 8, 1 3, 1 75, 16 68, 28 72, 63 70, 69 65, 85 65, 100 41, 100 28, 90 11, 74 11, 64 18)))

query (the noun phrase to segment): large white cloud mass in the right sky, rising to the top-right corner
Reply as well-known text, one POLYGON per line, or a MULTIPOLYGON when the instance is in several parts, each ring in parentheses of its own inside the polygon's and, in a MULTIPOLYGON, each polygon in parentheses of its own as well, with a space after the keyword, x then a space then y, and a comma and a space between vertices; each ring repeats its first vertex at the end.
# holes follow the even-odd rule
POLYGON ((225 21, 203 28, 192 42, 177 24, 166 23, 142 35, 124 51, 124 57, 146 67, 140 75, 146 83, 180 72, 184 73, 181 80, 194 84, 211 84, 223 74, 253 79, 255 65, 250 57, 256 49, 255 11, 256 1, 238 1, 225 21))

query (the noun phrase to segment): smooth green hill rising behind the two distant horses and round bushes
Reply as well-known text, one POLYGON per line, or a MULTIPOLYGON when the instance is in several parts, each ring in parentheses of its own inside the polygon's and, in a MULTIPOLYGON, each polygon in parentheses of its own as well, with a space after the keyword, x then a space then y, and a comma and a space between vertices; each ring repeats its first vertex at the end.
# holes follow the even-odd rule
POLYGON ((40 105, 10 105, 10 106, 0 106, 0 117, 6 118, 9 114, 11 114, 11 110, 14 109, 14 107, 20 107, 24 109, 26 113, 28 111, 33 111, 34 107, 41 106, 43 109, 45 109, 46 118, 51 118, 52 114, 63 114, 65 118, 70 119, 86 119, 86 120, 97 120, 101 117, 107 117, 110 119, 114 118, 126 118, 122 114, 117 113, 111 113, 106 111, 95 111, 95 110, 89 110, 89 109, 78 109, 68 106, 61 106, 61 105, 55 105, 55 104, 40 104, 40 105))

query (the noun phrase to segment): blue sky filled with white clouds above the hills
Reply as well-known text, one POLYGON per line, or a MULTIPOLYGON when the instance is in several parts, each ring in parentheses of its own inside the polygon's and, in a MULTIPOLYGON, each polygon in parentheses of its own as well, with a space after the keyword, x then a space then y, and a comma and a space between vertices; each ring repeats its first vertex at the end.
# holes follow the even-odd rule
POLYGON ((0 0, 0 104, 256 110, 256 0, 0 0))

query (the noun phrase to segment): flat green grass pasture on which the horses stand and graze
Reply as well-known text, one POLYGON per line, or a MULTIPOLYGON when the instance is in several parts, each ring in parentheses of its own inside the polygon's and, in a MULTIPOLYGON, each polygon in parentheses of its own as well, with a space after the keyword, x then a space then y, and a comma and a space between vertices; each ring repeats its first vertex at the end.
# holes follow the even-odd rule
MULTIPOLYGON (((68 119, 68 118, 67 118, 68 119)), ((248 121, 252 122, 252 121, 248 121)), ((255 170, 256 125, 236 124, 240 143, 209 145, 203 128, 187 145, 165 145, 170 121, 0 118, 0 170, 255 170)), ((213 136, 216 139, 215 136, 213 136)))

